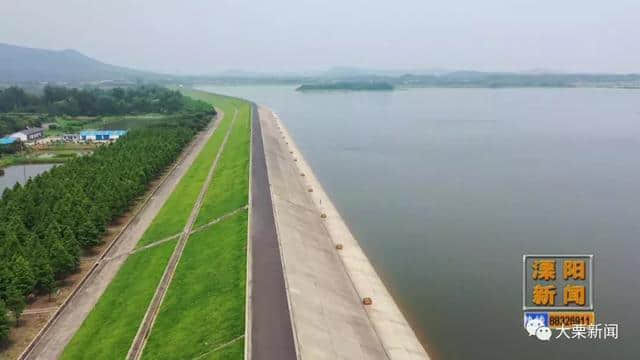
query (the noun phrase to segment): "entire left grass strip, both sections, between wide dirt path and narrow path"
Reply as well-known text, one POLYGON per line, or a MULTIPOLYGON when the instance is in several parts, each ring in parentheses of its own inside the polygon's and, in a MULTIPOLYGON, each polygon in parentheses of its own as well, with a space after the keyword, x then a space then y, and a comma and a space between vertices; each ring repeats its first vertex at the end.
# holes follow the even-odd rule
MULTIPOLYGON (((163 205, 158 215, 156 215, 152 224, 138 242, 138 246, 167 238, 182 231, 207 173, 213 165, 213 159, 218 152, 222 137, 224 137, 224 131, 228 128, 229 123, 230 120, 225 113, 219 128, 207 141, 187 173, 176 186, 176 189, 163 205), (222 137, 220 134, 222 134, 222 137)), ((169 243, 175 245, 176 241, 170 241, 169 243)), ((165 245, 162 246, 164 247, 165 245)), ((131 259, 127 259, 127 263, 120 269, 112 284, 105 290, 96 307, 65 349, 62 358, 124 358, 151 302, 173 248, 174 246, 171 246, 166 257, 163 256, 162 259, 160 259, 160 255, 150 252, 151 249, 155 248, 133 255, 142 259, 154 257, 155 260, 134 260, 135 263, 129 265, 131 259), (145 271, 141 272, 139 266, 145 265, 137 264, 148 261, 155 261, 157 266, 145 268, 145 271), (113 286, 114 283, 119 285, 113 286), (129 291, 135 292, 136 301, 129 301, 123 296, 123 294, 128 294, 129 291), (103 299, 106 300, 103 301, 103 299), (119 310, 114 312, 114 309, 119 310), (108 328, 103 327, 102 324, 105 323, 110 324, 110 326, 108 328), (86 349, 97 350, 94 353, 93 350, 89 352, 86 349)))

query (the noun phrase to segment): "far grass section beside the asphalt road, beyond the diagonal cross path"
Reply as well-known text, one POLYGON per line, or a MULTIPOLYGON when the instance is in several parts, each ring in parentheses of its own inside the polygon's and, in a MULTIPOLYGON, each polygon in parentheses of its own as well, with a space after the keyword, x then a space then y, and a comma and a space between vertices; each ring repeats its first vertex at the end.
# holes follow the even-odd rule
POLYGON ((247 204, 250 126, 251 106, 245 103, 238 110, 238 118, 205 195, 196 226, 204 225, 247 204))

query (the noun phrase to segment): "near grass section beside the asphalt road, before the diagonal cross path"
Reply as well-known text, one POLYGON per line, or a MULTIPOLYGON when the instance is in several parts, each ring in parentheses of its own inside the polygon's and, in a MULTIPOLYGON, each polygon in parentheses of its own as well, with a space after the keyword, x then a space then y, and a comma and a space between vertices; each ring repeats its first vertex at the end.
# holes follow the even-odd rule
POLYGON ((244 334, 247 217, 244 210, 191 235, 143 359, 242 357, 243 339, 212 350, 244 334))

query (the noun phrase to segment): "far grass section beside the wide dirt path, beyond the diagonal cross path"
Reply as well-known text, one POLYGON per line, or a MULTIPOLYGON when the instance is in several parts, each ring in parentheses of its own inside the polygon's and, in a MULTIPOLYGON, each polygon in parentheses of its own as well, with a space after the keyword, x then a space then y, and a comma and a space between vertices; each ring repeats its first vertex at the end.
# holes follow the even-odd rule
POLYGON ((142 239, 138 241, 138 247, 178 234, 184 229, 202 184, 213 165, 213 159, 218 154, 224 136, 231 125, 232 118, 232 109, 225 111, 225 116, 218 129, 198 154, 193 165, 187 170, 187 173, 171 193, 158 215, 153 219, 142 239))

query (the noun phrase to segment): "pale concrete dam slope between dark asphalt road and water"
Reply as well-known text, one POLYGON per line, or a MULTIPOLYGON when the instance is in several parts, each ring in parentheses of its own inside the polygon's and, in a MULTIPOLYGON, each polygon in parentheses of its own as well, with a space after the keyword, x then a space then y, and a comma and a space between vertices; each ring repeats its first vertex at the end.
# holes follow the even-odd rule
POLYGON ((278 116, 258 115, 297 357, 428 359, 278 116))

